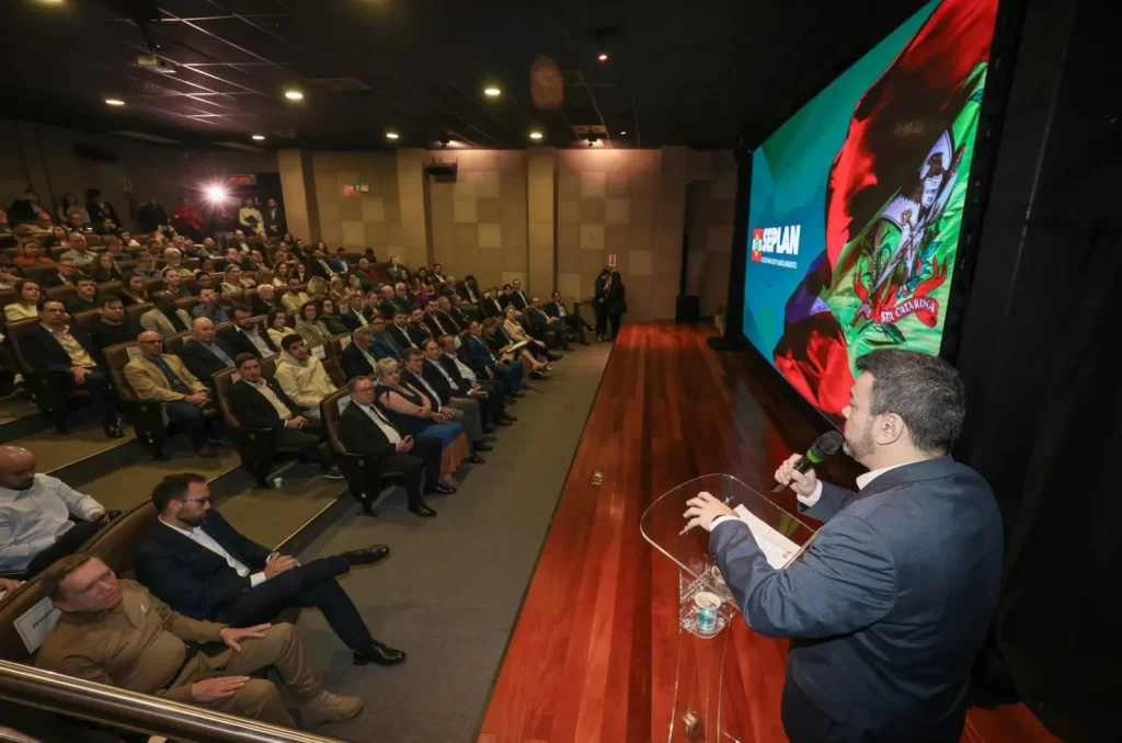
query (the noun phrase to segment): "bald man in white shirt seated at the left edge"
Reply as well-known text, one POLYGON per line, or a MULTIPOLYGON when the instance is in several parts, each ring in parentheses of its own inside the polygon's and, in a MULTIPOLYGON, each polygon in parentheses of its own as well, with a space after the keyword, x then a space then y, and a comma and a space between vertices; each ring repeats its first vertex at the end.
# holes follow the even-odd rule
POLYGON ((33 578, 76 552, 105 523, 105 508, 92 497, 36 474, 30 451, 0 446, 0 572, 33 578))

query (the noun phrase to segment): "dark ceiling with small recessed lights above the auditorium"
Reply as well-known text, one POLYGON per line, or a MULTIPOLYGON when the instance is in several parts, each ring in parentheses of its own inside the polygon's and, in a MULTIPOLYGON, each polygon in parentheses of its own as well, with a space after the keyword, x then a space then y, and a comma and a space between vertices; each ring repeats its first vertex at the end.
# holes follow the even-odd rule
POLYGON ((918 0, 3 0, 4 116, 197 146, 727 148, 766 131, 918 0), (175 74, 137 64, 138 19, 175 74), (599 38, 607 63, 596 59, 599 38), (567 85, 540 110, 530 67, 567 85), (353 90, 335 90, 341 84, 353 90), (482 89, 503 94, 486 100, 482 89), (296 86, 300 103, 284 99, 296 86), (104 99, 118 97, 125 107, 104 99), (389 143, 387 129, 401 132, 389 143), (626 131, 627 134, 620 134, 626 131), (264 134, 264 143, 250 135, 264 134))

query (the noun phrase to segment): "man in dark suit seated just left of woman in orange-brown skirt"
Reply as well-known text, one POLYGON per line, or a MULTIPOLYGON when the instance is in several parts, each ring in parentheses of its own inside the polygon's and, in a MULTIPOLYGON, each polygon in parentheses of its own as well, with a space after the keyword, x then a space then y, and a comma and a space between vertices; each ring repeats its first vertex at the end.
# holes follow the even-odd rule
POLYGON ((347 451, 377 458, 384 473, 402 473, 412 513, 431 519, 421 493, 456 493, 440 483, 440 439, 427 435, 403 437, 374 404, 374 383, 355 377, 348 385, 351 402, 339 416, 339 439, 347 451))

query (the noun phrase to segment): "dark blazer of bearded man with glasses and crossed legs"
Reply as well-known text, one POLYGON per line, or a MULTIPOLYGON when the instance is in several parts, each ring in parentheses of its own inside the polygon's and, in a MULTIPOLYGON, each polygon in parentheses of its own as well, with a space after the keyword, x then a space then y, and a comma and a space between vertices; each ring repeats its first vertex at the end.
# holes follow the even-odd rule
MULTIPOLYGON (((239 534, 218 511, 208 512, 202 529, 250 574, 265 568, 272 551, 239 534)), ((249 576, 242 578, 226 559, 166 524, 153 524, 134 565, 148 590, 196 620, 213 620, 221 606, 250 587, 249 576)))

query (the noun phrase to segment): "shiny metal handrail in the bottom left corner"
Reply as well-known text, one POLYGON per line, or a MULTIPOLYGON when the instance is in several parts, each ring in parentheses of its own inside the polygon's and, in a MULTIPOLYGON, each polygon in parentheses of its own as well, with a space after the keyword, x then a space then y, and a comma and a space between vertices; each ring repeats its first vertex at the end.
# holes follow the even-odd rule
POLYGON ((343 743, 292 727, 118 689, 0 660, 0 698, 68 717, 176 741, 343 743))

